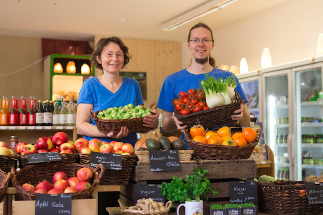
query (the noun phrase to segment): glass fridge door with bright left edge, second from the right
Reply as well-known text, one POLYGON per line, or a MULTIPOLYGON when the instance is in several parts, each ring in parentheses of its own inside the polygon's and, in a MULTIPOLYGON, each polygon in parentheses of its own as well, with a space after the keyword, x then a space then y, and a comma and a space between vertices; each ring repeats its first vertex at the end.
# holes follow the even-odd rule
POLYGON ((293 171, 289 143, 292 134, 290 76, 290 69, 263 74, 265 138, 274 152, 276 179, 287 181, 291 180, 293 171))

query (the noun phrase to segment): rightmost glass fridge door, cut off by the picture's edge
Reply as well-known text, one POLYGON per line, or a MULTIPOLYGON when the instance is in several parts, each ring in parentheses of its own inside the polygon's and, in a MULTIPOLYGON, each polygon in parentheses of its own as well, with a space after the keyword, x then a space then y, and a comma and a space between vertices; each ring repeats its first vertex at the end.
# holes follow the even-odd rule
MULTIPOLYGON (((292 70, 295 76, 296 180, 323 175, 322 67, 313 64, 292 70)), ((294 78, 293 78, 294 79, 294 78)))

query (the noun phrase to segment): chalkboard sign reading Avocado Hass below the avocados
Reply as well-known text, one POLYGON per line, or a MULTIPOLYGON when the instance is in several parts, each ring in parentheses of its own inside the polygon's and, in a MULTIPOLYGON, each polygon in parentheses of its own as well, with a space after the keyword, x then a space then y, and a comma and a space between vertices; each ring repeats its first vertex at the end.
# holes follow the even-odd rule
POLYGON ((151 171, 179 171, 178 150, 149 150, 151 171))

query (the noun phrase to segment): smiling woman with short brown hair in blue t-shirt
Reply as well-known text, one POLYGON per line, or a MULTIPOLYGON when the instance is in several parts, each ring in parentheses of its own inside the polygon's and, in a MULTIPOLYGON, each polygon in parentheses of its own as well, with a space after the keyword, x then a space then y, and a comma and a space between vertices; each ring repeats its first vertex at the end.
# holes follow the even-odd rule
MULTIPOLYGON (((102 141, 121 141, 133 146, 137 142, 136 132, 129 133, 125 126, 121 127, 118 134, 101 133, 91 118, 90 109, 93 111, 107 108, 120 107, 128 104, 134 106, 144 105, 139 83, 132 78, 119 75, 131 58, 128 47, 118 37, 102 38, 97 43, 92 54, 93 65, 103 70, 103 75, 85 80, 77 101, 76 127, 78 134, 90 140, 98 138, 102 141)), ((159 112, 152 110, 155 115, 147 115, 144 118, 144 126, 147 133, 158 127, 159 112)))

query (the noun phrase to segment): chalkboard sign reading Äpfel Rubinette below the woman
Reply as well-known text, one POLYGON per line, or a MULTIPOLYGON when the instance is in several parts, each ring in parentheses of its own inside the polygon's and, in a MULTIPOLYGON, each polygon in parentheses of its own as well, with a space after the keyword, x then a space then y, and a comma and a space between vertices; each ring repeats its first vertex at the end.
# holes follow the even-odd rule
POLYGON ((122 170, 121 154, 101 153, 91 151, 90 155, 91 166, 96 167, 102 163, 104 168, 112 170, 122 170))

